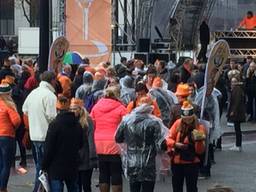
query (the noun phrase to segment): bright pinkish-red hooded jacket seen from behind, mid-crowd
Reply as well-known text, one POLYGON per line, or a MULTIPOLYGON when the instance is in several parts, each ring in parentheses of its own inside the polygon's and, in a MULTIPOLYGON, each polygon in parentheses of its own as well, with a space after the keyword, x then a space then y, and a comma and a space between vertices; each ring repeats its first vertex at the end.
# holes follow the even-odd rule
POLYGON ((97 154, 120 154, 115 142, 115 133, 122 117, 127 114, 125 106, 114 99, 102 98, 92 108, 95 124, 94 140, 97 154))

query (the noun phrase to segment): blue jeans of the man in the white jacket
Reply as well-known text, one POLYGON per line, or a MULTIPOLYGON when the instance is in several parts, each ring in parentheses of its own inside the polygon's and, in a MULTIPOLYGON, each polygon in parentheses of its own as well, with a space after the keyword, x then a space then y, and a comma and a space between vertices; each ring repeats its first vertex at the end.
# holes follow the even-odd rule
POLYGON ((34 161, 36 165, 36 178, 35 178, 35 186, 34 192, 37 192, 40 181, 38 180, 39 172, 41 170, 41 164, 44 156, 44 142, 43 141, 33 141, 34 147, 34 161))

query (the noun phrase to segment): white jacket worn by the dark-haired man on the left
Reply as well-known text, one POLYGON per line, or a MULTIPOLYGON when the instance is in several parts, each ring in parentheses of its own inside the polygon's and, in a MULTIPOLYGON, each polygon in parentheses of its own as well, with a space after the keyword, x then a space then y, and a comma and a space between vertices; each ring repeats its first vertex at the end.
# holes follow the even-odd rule
POLYGON ((22 111, 28 116, 29 134, 32 141, 45 141, 49 123, 56 117, 57 97, 54 88, 46 81, 26 98, 22 111))

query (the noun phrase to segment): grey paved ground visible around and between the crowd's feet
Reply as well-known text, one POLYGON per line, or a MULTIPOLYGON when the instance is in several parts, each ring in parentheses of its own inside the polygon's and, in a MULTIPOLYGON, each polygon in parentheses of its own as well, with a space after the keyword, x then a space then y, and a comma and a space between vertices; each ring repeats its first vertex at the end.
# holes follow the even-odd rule
MULTIPOLYGON (((234 143, 234 136, 223 138, 223 151, 216 152, 217 164, 212 168, 212 177, 208 180, 199 181, 199 192, 206 192, 207 188, 215 184, 232 186, 235 192, 255 192, 256 186, 256 133, 243 136, 243 152, 228 151, 234 143)), ((93 191, 99 191, 95 187, 97 184, 98 172, 93 175, 93 191)), ((10 192, 31 192, 34 179, 34 165, 29 163, 29 172, 25 176, 12 173, 9 182, 10 192)), ((125 180, 124 192, 128 192, 129 187, 125 180)), ((171 177, 167 177, 165 182, 159 181, 156 184, 156 192, 171 191, 171 177)))

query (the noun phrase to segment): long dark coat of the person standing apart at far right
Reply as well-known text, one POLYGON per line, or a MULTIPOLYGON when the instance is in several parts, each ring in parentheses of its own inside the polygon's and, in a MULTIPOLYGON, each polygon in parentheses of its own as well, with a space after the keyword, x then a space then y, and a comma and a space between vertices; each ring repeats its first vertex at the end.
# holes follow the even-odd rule
POLYGON ((242 84, 238 84, 231 90, 227 117, 230 122, 244 122, 245 113, 245 94, 242 84), (233 115, 231 115, 231 112, 233 112, 233 115))

